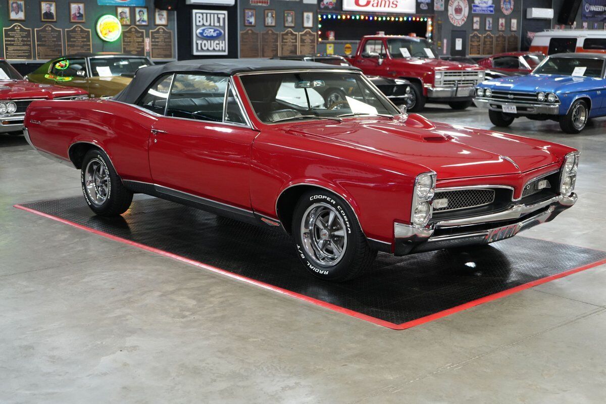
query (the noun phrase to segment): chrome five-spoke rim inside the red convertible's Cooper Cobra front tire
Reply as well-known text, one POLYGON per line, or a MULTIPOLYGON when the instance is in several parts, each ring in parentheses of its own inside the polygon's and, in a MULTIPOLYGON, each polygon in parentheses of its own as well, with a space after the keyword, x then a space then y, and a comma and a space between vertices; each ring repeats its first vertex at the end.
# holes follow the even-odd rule
POLYGON ((347 248, 347 231, 339 212, 328 204, 313 204, 301 222, 301 240, 308 256, 324 267, 336 265, 347 248))

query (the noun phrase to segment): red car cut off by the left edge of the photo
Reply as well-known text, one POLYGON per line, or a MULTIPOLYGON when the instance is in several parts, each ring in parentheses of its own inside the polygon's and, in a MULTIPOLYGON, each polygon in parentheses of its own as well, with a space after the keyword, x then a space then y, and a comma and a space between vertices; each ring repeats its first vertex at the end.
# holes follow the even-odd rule
POLYGON ((7 61, 0 59, 0 133, 20 133, 25 110, 34 100, 86 99, 87 94, 78 88, 30 83, 7 61))

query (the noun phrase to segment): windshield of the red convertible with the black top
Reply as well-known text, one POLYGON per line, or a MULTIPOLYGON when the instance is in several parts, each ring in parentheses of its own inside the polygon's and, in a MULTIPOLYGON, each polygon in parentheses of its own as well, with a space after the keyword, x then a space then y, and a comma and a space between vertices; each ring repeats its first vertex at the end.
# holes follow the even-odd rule
POLYGON ((262 122, 399 114, 359 73, 264 73, 241 79, 262 122))

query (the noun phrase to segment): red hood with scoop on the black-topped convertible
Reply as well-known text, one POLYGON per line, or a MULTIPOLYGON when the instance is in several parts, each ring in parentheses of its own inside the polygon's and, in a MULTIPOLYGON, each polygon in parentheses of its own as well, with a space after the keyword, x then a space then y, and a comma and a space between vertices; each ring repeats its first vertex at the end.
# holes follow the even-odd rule
POLYGON ((297 125, 297 131, 436 171, 438 179, 519 174, 558 162, 550 143, 427 121, 347 119, 297 125))

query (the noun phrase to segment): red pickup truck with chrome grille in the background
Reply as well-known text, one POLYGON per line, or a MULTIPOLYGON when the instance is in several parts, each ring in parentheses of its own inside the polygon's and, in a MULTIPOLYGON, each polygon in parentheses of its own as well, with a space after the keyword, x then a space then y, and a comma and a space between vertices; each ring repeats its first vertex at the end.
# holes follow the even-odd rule
POLYGON ((447 102, 455 110, 464 110, 471 105, 474 87, 485 75, 478 65, 439 59, 431 42, 412 36, 364 36, 349 60, 367 75, 409 80, 416 97, 411 108, 415 112, 428 101, 447 102))

